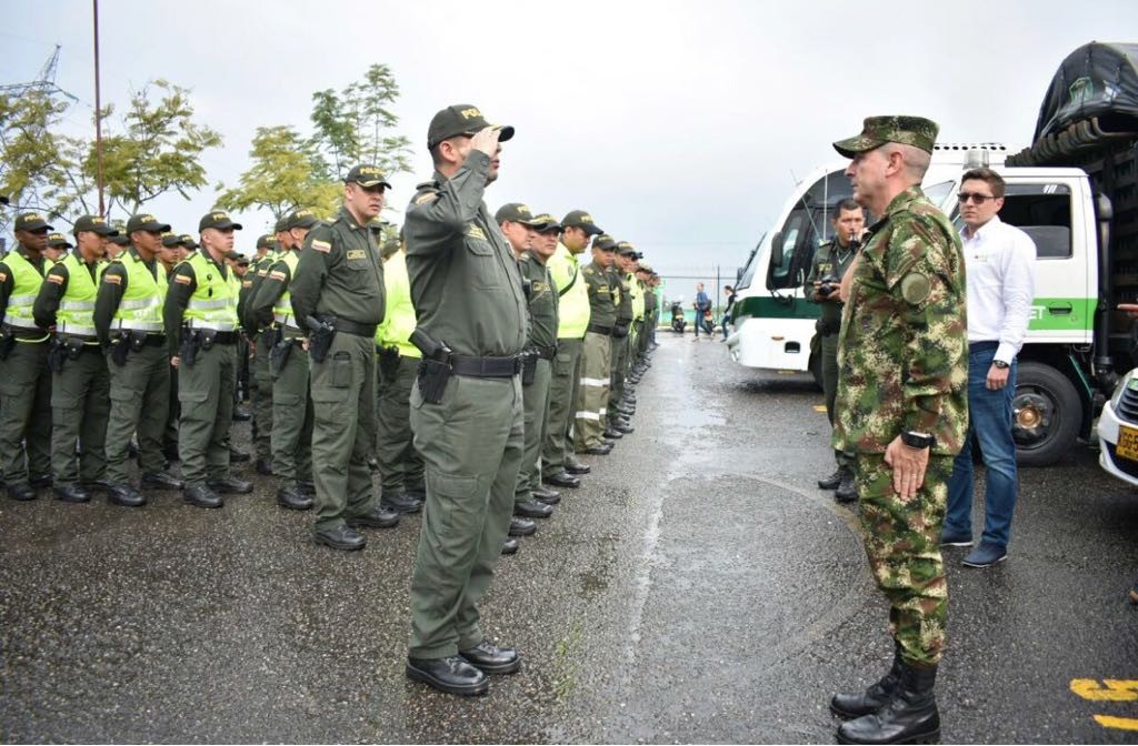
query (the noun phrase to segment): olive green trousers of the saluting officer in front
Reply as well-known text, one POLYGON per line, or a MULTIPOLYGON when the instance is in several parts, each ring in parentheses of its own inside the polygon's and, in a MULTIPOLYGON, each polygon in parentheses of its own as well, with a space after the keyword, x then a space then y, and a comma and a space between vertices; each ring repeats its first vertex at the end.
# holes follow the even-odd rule
POLYGON ((411 580, 410 655, 442 658, 483 641, 489 588, 513 514, 525 441, 521 381, 452 376, 439 404, 411 391, 427 505, 411 580))

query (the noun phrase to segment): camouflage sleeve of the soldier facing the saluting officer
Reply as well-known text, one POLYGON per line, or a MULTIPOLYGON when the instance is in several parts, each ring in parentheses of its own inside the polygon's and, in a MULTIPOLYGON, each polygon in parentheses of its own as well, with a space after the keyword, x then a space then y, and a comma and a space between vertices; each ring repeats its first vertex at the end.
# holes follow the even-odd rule
POLYGON ((937 432, 945 397, 963 383, 967 326, 957 257, 954 241, 923 217, 899 225, 889 243, 885 283, 905 325, 901 412, 913 432, 937 432))

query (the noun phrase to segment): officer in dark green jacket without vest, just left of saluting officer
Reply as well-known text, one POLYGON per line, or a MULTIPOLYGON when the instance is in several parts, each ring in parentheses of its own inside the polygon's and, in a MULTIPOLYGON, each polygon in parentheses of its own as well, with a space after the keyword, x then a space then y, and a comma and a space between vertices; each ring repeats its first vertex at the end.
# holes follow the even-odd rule
POLYGON ((376 446, 376 325, 384 321, 384 265, 368 223, 384 209, 390 184, 370 165, 355 166, 344 182, 344 206, 305 237, 289 291, 292 315, 310 337, 313 538, 351 550, 365 544, 356 528, 393 527, 399 515, 379 506, 368 467, 376 446), (323 359, 313 349, 318 333, 332 334, 323 359))

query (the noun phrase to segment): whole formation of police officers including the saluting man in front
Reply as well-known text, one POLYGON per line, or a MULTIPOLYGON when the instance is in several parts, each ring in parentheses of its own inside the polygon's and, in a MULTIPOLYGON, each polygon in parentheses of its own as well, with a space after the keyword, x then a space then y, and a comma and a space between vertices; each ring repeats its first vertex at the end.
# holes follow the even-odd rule
POLYGON ((360 528, 426 503, 407 674, 480 694, 486 673, 517 671, 476 604, 496 557, 552 514, 553 488, 580 486, 578 457, 633 432, 659 276, 585 210, 556 219, 511 202, 490 217, 483 193, 512 135, 475 107, 439 111, 435 179, 386 242, 390 184, 369 165, 347 174, 333 219, 292 210, 251 262, 221 210, 197 239, 152 215, 122 233, 85 215, 74 246, 18 215, 0 262, 8 496, 50 486, 65 502, 99 491, 140 507, 181 490, 217 508, 250 492, 230 470, 250 457, 230 445, 248 359, 256 471, 275 476, 282 508, 313 509, 316 542, 361 549, 360 528))

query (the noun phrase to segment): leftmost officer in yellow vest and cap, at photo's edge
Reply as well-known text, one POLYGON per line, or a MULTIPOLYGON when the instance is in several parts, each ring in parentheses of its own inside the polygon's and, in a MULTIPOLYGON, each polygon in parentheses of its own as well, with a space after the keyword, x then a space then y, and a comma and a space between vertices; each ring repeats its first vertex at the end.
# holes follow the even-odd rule
POLYGON ((0 469, 8 497, 35 499, 51 472, 51 379, 46 328, 33 306, 50 264, 52 227, 38 213, 16 217, 18 246, 0 260, 0 469))

